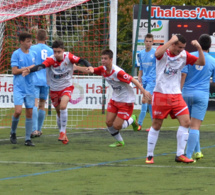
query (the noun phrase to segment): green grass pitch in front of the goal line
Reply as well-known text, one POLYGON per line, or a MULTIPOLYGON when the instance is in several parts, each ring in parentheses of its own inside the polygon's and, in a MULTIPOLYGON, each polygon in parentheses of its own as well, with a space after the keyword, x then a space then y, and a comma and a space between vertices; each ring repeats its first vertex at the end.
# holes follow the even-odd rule
MULTIPOLYGON (((138 114, 138 113, 136 113, 138 114)), ((150 127, 149 114, 144 129, 150 127)), ((155 164, 146 165, 147 132, 121 131, 125 146, 109 148, 115 140, 105 130, 68 130, 70 143, 57 141, 57 129, 44 129, 35 147, 9 141, 9 129, 0 129, 1 194, 139 195, 214 194, 214 112, 201 127, 204 158, 194 164, 174 162, 177 120, 166 119, 155 148, 155 164)))

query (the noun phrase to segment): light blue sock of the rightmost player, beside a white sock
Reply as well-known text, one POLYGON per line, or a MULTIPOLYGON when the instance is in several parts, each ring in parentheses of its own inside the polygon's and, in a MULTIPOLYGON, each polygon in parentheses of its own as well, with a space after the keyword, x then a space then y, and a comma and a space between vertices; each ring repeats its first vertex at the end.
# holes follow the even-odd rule
POLYGON ((190 129, 189 137, 187 140, 187 150, 186 150, 187 158, 192 158, 194 149, 195 149, 198 141, 199 141, 199 130, 190 129))

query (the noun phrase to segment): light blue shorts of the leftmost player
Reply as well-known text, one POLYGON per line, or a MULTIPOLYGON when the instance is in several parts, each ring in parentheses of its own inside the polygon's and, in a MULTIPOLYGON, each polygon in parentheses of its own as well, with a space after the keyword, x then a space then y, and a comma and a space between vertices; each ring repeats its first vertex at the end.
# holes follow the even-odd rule
POLYGON ((34 94, 24 94, 21 92, 13 93, 13 102, 15 106, 25 104, 26 108, 33 108, 35 103, 34 94))

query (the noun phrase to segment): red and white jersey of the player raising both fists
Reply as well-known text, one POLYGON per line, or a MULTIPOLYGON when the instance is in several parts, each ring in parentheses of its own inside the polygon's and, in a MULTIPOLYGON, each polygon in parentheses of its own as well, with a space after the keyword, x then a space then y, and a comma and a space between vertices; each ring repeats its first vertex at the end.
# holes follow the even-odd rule
POLYGON ((163 94, 181 93, 181 70, 187 64, 193 65, 198 58, 183 50, 175 56, 166 50, 161 58, 156 59, 155 92, 163 94))

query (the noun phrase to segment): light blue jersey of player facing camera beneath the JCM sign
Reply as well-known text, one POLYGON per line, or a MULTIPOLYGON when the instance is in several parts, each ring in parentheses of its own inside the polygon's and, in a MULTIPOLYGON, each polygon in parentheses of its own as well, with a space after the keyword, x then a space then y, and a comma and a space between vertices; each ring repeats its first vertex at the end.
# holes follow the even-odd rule
POLYGON ((150 51, 140 51, 138 55, 138 61, 140 63, 140 70, 143 71, 142 82, 155 82, 156 80, 156 58, 155 49, 152 48, 150 51))

